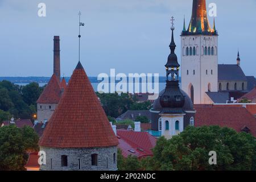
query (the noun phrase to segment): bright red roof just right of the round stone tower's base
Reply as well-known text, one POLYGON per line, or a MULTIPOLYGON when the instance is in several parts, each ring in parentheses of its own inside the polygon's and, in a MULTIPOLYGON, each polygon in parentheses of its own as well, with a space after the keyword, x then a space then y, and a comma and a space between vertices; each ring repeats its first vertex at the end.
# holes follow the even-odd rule
POLYGON ((147 132, 135 132, 127 130, 117 130, 119 140, 118 148, 122 150, 122 155, 127 158, 129 155, 143 158, 152 156, 152 148, 156 145, 156 138, 147 132))

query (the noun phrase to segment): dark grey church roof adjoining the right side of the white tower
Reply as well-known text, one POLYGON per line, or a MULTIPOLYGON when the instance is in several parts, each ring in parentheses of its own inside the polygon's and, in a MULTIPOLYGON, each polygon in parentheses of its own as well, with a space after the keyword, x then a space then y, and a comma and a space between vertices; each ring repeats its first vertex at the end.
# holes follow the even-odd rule
POLYGON ((219 64, 218 81, 247 81, 247 79, 237 64, 219 64))

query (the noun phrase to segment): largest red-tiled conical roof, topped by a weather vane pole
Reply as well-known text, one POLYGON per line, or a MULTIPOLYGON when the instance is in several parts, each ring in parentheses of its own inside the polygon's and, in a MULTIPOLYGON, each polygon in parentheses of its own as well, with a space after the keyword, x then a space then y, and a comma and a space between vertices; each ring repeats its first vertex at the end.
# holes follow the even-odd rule
POLYGON ((57 148, 118 145, 118 139, 80 62, 48 121, 39 145, 57 148))

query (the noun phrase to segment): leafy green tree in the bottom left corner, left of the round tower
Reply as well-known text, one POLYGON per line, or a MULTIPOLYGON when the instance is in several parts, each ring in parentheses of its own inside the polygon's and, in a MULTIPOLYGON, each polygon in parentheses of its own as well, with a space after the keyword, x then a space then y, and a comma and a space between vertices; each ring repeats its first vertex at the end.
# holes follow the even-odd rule
POLYGON ((39 137, 31 127, 15 125, 0 128, 0 171, 22 171, 27 151, 38 150, 39 137))

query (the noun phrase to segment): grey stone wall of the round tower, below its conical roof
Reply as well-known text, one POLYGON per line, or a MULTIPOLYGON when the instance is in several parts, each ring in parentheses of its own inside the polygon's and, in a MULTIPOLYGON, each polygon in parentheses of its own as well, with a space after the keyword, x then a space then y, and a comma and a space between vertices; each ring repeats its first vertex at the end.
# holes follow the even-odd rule
POLYGON ((116 171, 117 146, 105 148, 48 148, 40 146, 40 151, 46 152, 46 165, 41 165, 42 171, 116 171), (98 155, 97 166, 92 166, 92 154, 98 155), (114 162, 115 154, 115 162, 114 162), (68 166, 61 166, 61 155, 68 156, 68 166), (52 159, 52 165, 51 165, 52 159), (80 167, 79 169, 79 159, 80 167), (108 164, 107 164, 108 162, 108 164))

